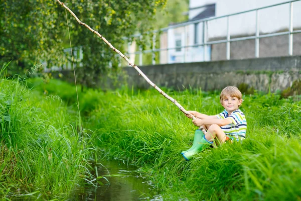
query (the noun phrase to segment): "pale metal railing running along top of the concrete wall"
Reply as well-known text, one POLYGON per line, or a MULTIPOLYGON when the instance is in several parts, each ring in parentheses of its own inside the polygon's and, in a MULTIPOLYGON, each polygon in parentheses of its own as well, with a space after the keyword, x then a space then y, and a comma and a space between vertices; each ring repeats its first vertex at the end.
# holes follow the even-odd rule
MULTIPOLYGON (((288 55, 292 55, 293 52, 293 41, 292 41, 292 35, 296 34, 296 33, 301 33, 301 30, 295 30, 293 31, 293 3, 294 2, 299 2, 301 0, 294 0, 294 1, 287 1, 287 2, 283 2, 283 3, 279 3, 279 4, 274 4, 274 5, 270 5, 270 6, 265 6, 265 7, 261 7, 261 8, 257 8, 257 9, 252 9, 252 10, 248 10, 248 11, 244 11, 244 12, 239 12, 239 13, 234 13, 234 14, 229 14, 229 15, 224 15, 224 16, 220 16, 220 17, 211 17, 211 18, 207 18, 207 19, 200 19, 200 20, 195 20, 195 21, 190 21, 190 22, 185 22, 182 24, 177 24, 177 25, 172 25, 169 26, 167 28, 161 29, 161 30, 156 30, 153 32, 153 45, 152 45, 152 49, 149 50, 143 50, 141 49, 141 47, 139 47, 139 51, 135 51, 135 52, 130 52, 130 44, 128 44, 128 51, 127 51, 127 55, 139 55, 139 65, 143 65, 142 63, 142 55, 145 53, 152 53, 152 64, 156 64, 156 60, 155 60, 155 53, 156 52, 162 52, 162 51, 167 51, 167 55, 168 55, 168 51, 170 50, 175 50, 177 48, 184 48, 184 62, 185 62, 185 57, 186 57, 186 49, 187 48, 191 48, 191 47, 203 47, 203 58, 204 61, 206 61, 206 55, 207 55, 207 46, 210 45, 214 45, 214 44, 219 44, 219 43, 226 43, 226 59, 230 60, 230 43, 234 42, 234 41, 244 41, 244 40, 250 40, 250 39, 254 39, 255 40, 255 58, 259 57, 259 39, 261 38, 267 38, 267 37, 273 37, 273 36, 281 36, 281 35, 288 35, 288 55), (289 4, 289 27, 288 27, 288 31, 282 31, 282 32, 277 32, 277 33, 269 33, 269 34, 259 34, 259 11, 263 10, 263 9, 267 9, 267 8, 271 8, 271 7, 276 7, 276 6, 280 6, 280 5, 285 5, 285 4, 289 4), (231 38, 230 37, 230 17, 231 16, 235 16, 235 15, 239 15, 239 14, 245 14, 245 13, 250 13, 250 12, 256 12, 256 26, 255 26, 255 34, 252 36, 245 36, 245 37, 237 37, 237 38, 231 38), (227 34, 226 34, 226 39, 224 40, 214 40, 214 41, 208 41, 207 39, 207 27, 208 27, 208 22, 212 21, 212 20, 217 20, 217 19, 222 19, 222 18, 226 18, 227 20, 227 34), (192 24, 196 24, 196 23, 203 23, 203 41, 202 43, 198 43, 198 44, 193 44, 193 45, 181 45, 181 46, 177 46, 177 47, 167 47, 167 48, 155 48, 156 47, 156 36, 157 34, 159 35, 159 33, 162 32, 167 32, 169 29, 175 29, 175 28, 179 28, 179 27, 186 27, 188 25, 192 25, 192 24)), ((185 35, 186 35, 187 29, 185 28, 185 35)), ((149 33, 146 33, 149 34, 149 33)), ((136 34, 133 35, 133 37, 142 37, 141 34, 136 34)))

